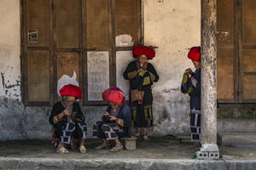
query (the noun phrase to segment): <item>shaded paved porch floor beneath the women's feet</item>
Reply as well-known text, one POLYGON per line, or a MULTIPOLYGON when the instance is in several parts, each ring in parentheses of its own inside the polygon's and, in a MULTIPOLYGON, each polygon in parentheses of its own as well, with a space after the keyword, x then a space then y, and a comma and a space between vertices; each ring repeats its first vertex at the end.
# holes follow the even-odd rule
MULTIPOLYGON (((55 153, 50 141, 8 141, 0 142, 0 158, 64 158, 64 159, 105 159, 105 158, 144 158, 144 159, 195 159, 193 143, 179 143, 172 136, 151 138, 150 141, 137 139, 137 150, 123 150, 117 153, 95 150, 102 144, 99 139, 87 139, 86 154, 71 150, 69 154, 55 153)), ((221 159, 256 160, 256 147, 218 146, 221 159)))

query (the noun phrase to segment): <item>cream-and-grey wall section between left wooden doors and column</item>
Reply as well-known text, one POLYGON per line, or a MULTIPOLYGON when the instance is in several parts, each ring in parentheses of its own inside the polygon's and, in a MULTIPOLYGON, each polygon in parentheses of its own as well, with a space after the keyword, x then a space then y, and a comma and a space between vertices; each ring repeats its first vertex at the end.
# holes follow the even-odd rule
POLYGON ((180 93, 189 48, 200 46, 200 0, 144 0, 144 43, 158 47, 151 61, 160 75, 154 84, 152 134, 189 133, 189 96, 180 93))

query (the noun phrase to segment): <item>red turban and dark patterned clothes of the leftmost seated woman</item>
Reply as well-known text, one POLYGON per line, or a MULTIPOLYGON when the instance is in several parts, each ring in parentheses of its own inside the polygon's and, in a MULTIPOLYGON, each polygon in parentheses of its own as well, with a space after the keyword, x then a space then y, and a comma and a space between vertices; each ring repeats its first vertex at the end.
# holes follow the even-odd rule
MULTIPOLYGON (((77 99, 82 99, 82 89, 72 84, 61 88, 60 94, 61 96, 74 96, 77 99)), ((52 136, 55 140, 55 147, 59 143, 73 145, 72 137, 74 139, 86 139, 87 127, 79 103, 74 102, 73 105, 69 106, 65 99, 55 103, 49 116, 49 123, 55 128, 52 136), (59 114, 66 109, 71 114, 60 119, 59 114)))

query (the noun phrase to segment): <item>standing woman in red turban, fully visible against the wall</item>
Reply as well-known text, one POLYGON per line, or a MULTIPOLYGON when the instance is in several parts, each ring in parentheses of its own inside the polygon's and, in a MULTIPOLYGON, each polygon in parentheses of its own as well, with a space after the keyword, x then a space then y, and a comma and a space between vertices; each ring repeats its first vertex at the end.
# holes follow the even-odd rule
POLYGON ((123 74, 126 80, 130 80, 132 122, 137 127, 135 135, 143 135, 144 140, 150 140, 147 133, 148 127, 153 126, 151 85, 159 79, 154 66, 148 63, 148 59, 154 58, 154 48, 136 46, 132 53, 136 60, 127 66, 123 74))

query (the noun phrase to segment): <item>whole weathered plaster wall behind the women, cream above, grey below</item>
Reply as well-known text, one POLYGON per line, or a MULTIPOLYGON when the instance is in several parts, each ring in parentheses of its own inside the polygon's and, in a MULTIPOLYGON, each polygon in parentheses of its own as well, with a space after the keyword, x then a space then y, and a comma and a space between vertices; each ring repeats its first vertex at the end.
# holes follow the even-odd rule
MULTIPOLYGON (((189 97, 179 87, 183 71, 193 67, 189 48, 200 45, 201 0, 142 2, 144 42, 158 47, 150 62, 160 75, 153 87, 154 127, 149 133, 188 134, 189 97)), ((20 0, 1 0, 0 14, 0 139, 50 139, 51 108, 25 107, 20 100, 20 0)), ((91 135, 92 123, 105 107, 82 109, 91 135)))

